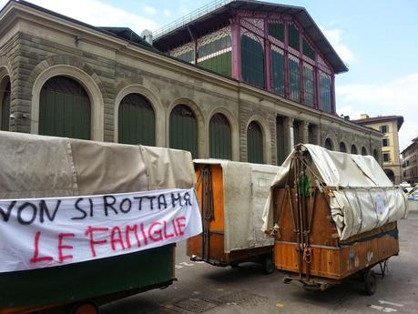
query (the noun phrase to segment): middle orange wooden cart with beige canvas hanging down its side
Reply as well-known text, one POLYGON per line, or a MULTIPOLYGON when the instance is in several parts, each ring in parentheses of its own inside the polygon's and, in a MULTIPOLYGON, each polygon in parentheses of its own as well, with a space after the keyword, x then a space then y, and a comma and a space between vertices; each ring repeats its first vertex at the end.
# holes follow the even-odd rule
POLYGON ((270 183, 279 167, 216 159, 194 160, 194 164, 203 232, 189 238, 189 257, 233 268, 256 261, 265 273, 273 272, 273 241, 260 228, 270 183), (235 224, 236 219, 241 223, 235 224))

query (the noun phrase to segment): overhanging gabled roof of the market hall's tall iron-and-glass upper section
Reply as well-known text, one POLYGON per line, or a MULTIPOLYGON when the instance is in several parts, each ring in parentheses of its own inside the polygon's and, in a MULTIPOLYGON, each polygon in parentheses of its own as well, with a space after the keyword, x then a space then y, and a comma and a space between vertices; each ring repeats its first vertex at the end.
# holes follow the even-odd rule
POLYGON ((255 0, 219 0, 155 31, 154 45, 158 47, 164 42, 171 41, 175 36, 189 36, 190 28, 204 27, 208 25, 209 21, 217 21, 219 24, 221 19, 228 20, 228 14, 231 10, 236 9, 293 15, 309 35, 313 44, 318 47, 322 56, 331 64, 334 72, 348 71, 348 67, 323 35, 320 27, 316 25, 308 11, 301 6, 278 5, 255 0))

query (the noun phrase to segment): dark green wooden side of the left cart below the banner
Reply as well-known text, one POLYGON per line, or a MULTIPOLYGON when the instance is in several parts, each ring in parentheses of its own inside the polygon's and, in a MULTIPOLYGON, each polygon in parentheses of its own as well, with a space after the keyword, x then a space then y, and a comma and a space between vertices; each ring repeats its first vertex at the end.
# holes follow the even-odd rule
POLYGON ((174 279, 173 245, 53 268, 0 273, 0 309, 74 302, 174 279))

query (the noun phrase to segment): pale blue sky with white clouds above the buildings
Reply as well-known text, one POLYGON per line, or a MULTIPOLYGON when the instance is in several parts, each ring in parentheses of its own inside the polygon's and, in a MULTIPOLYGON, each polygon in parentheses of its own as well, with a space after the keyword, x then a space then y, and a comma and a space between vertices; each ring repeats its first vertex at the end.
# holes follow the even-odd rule
MULTIPOLYGON (((401 150, 418 137, 418 1, 264 0, 304 6, 350 70, 336 76, 337 112, 404 117, 401 150)), ((211 0, 31 0, 96 26, 156 30, 211 0), (69 3, 71 5, 69 5, 69 3)), ((0 7, 5 5, 0 0, 0 7)))

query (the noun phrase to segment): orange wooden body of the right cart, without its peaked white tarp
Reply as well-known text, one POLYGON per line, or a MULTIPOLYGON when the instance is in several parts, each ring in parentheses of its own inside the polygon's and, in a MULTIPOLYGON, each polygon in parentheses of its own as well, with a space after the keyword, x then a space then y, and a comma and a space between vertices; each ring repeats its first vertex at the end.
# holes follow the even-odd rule
POLYGON ((310 148, 296 147, 287 162, 287 175, 272 189, 275 225, 269 231, 275 238, 275 267, 289 273, 284 282, 296 280, 305 289, 324 290, 360 276, 365 292, 372 295, 376 289, 372 268, 380 265, 384 276, 388 258, 399 253, 396 221, 342 240, 331 210, 341 187, 324 184, 310 148))

